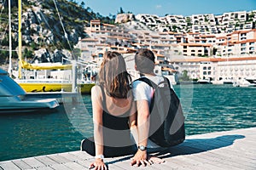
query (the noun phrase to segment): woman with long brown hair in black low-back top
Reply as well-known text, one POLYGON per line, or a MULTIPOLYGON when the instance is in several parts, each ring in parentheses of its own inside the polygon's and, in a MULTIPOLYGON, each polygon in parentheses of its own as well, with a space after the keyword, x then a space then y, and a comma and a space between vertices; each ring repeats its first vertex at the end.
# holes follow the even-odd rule
POLYGON ((106 52, 103 55, 99 84, 91 89, 91 102, 94 138, 84 139, 81 149, 95 156, 90 167, 107 169, 104 156, 131 155, 137 147, 131 140, 129 128, 134 123, 131 120, 136 117, 136 105, 131 91, 131 76, 121 54, 106 52))

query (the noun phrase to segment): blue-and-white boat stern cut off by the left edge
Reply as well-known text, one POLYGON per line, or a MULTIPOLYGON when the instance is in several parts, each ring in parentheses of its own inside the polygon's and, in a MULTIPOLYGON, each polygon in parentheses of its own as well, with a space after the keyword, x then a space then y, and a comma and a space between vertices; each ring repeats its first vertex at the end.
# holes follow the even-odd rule
POLYGON ((26 97, 23 88, 0 69, 0 113, 52 110, 58 106, 56 99, 26 97))

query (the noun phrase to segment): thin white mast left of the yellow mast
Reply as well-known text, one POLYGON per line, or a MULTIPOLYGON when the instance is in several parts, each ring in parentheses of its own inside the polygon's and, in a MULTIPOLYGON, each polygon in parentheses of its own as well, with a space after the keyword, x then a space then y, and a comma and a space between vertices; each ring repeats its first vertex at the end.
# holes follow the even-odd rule
POLYGON ((8 8, 9 8, 9 68, 8 68, 8 72, 9 72, 9 76, 12 76, 12 26, 11 26, 11 2, 9 0, 8 2, 8 8))

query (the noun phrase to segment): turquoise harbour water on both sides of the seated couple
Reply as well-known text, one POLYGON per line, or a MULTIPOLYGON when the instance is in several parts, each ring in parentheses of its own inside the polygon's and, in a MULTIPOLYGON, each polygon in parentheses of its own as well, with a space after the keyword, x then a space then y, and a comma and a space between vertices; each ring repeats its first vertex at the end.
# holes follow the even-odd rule
MULTIPOLYGON (((186 134, 256 127, 256 88, 174 86, 186 116, 186 134)), ((0 116, 0 161, 79 150, 93 133, 90 95, 50 113, 0 116)))

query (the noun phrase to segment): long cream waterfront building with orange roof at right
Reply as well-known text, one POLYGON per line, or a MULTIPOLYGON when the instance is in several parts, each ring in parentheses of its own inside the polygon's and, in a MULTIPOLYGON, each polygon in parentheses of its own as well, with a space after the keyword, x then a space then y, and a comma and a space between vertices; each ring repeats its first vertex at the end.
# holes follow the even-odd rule
POLYGON ((210 79, 215 83, 234 82, 256 76, 256 57, 177 59, 172 65, 179 76, 187 71, 192 79, 210 79))

